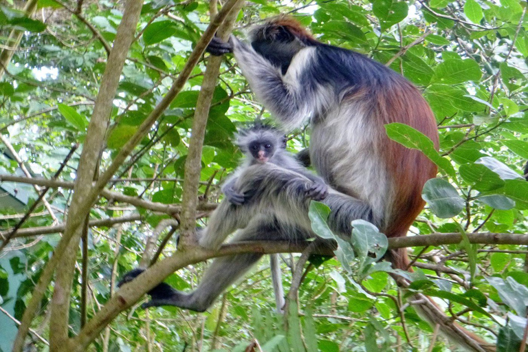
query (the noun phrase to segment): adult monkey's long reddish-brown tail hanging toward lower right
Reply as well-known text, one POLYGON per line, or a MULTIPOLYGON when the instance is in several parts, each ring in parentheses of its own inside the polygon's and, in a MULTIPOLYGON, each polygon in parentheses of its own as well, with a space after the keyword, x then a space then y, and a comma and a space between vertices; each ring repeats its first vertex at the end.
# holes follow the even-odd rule
MULTIPOLYGON (((398 250, 393 250, 389 254, 388 259, 393 263, 393 267, 401 270, 406 270, 412 272, 410 268, 409 259, 407 255, 406 248, 399 248, 398 250)), ((393 276, 397 285, 401 288, 408 287, 408 281, 398 275, 393 276)), ((415 308, 419 316, 426 320, 431 327, 439 325, 439 330, 445 337, 449 340, 452 340, 459 346, 467 349, 468 351, 478 351, 478 352, 495 352, 496 345, 489 343, 479 336, 476 336, 471 331, 467 331, 460 325, 453 322, 452 318, 446 316, 443 313, 443 310, 434 303, 432 298, 425 296, 423 294, 415 294, 410 297, 409 302, 415 308)))

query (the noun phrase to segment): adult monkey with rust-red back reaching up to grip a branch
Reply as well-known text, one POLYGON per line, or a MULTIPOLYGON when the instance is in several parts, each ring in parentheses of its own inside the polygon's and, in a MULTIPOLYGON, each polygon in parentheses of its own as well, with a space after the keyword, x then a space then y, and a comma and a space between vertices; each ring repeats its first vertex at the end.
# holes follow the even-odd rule
MULTIPOLYGON (((318 174, 357 199, 358 213, 368 208, 386 236, 406 236, 425 204, 423 185, 437 167, 420 151, 389 140, 384 125, 408 124, 438 147, 436 120, 419 90, 362 54, 316 41, 289 17, 252 28, 249 40, 214 39, 208 52, 232 52, 256 97, 286 128, 309 119, 309 155, 318 174)), ((408 270, 406 250, 392 251, 389 259, 408 270)), ((441 330, 467 349, 495 350, 436 306, 417 309, 434 325, 441 321, 441 330)))

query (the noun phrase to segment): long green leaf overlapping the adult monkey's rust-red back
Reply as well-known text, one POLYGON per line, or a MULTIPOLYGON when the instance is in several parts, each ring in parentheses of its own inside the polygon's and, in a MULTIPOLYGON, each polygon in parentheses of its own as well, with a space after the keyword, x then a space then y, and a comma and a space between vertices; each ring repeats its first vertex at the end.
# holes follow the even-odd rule
POLYGON ((434 149, 434 144, 426 135, 413 129, 411 126, 400 123, 386 124, 385 130, 389 138, 406 146, 418 149, 426 155, 434 164, 437 164, 448 175, 455 177, 454 168, 445 157, 441 157, 434 149))

